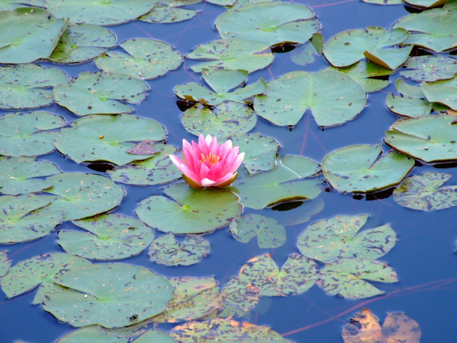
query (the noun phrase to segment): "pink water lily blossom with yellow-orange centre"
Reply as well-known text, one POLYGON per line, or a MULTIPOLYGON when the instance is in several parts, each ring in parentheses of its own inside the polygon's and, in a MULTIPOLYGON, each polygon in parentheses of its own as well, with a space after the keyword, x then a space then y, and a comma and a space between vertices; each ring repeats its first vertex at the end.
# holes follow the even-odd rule
POLYGON ((239 154, 238 150, 239 147, 233 147, 230 139, 219 145, 216 137, 211 138, 208 134, 204 138, 201 134, 198 144, 193 140, 192 144, 182 140, 184 161, 175 155, 170 155, 170 158, 189 186, 223 187, 234 182, 238 176, 236 170, 244 158, 244 152, 239 154))

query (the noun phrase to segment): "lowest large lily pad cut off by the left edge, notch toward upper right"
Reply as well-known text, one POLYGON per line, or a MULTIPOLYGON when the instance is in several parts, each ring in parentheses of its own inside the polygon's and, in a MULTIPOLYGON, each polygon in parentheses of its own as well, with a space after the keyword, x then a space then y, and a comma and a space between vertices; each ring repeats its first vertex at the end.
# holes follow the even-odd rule
POLYGON ((63 211, 46 207, 49 197, 34 194, 0 197, 0 244, 46 236, 63 221, 63 211))

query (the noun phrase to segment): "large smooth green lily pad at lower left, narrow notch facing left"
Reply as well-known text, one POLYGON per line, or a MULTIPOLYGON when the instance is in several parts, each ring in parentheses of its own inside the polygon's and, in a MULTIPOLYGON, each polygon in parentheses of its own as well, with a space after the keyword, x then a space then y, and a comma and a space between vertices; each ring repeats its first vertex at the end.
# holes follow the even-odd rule
POLYGON ((165 311, 172 286, 144 267, 122 263, 75 268, 54 280, 74 290, 44 294, 43 309, 74 327, 122 327, 165 311))

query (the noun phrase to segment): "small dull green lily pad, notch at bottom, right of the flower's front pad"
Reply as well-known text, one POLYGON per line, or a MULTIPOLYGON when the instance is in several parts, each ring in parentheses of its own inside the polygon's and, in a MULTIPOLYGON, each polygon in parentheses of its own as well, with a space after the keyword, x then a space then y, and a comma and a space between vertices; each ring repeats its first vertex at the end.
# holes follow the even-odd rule
POLYGON ((286 242, 286 229, 272 218, 260 214, 243 214, 228 225, 233 238, 247 243, 257 236, 259 248, 277 248, 286 242))

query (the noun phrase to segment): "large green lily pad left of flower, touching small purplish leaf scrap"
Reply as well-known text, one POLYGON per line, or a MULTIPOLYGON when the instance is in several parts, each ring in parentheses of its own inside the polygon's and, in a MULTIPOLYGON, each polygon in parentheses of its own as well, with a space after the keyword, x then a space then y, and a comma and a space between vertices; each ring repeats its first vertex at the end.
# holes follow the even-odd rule
POLYGON ((166 131, 154 119, 130 114, 117 116, 92 115, 80 118, 56 137, 55 146, 76 163, 107 161, 122 166, 150 155, 128 154, 126 150, 144 139, 162 140, 166 131))

